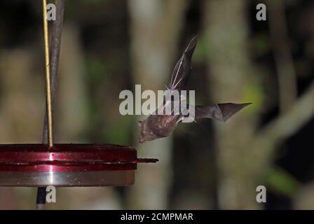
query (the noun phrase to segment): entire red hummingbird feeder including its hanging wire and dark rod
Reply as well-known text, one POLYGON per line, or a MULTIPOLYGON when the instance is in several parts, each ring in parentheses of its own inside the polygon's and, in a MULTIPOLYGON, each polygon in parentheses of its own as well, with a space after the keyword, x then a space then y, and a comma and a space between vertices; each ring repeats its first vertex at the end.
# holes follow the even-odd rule
MULTIPOLYGON (((0 186, 128 186, 135 181, 137 151, 110 144, 54 144, 53 102, 64 1, 56 6, 57 18, 48 43, 46 0, 43 0, 43 31, 46 59, 46 138, 43 144, 1 144, 0 186), (51 55, 49 54, 51 50, 51 55), (57 53, 56 53, 57 52, 57 53), (52 60, 50 62, 50 57, 52 60), (52 68, 52 76, 50 76, 52 68)), ((45 134, 43 134, 45 137, 45 134)))

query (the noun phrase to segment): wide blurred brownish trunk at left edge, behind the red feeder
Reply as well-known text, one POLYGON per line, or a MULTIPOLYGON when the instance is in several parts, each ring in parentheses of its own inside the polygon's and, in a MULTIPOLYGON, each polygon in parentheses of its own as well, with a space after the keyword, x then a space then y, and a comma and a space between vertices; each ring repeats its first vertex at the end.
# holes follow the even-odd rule
MULTIPOLYGON (((1 144, 39 143, 42 128, 39 118, 45 105, 41 93, 45 85, 41 76, 34 75, 33 62, 38 58, 32 49, 1 50, 1 144)), ((32 191, 31 188, 1 188, 0 209, 32 209, 33 203, 28 206, 34 202, 34 195, 30 196, 32 191)))

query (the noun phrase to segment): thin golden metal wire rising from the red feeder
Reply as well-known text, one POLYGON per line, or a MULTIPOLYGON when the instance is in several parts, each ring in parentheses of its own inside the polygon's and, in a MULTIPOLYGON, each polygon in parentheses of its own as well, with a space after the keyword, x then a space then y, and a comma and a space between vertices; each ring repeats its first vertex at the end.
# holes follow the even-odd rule
POLYGON ((48 144, 50 147, 52 147, 53 146, 53 111, 52 111, 51 87, 50 87, 48 21, 46 19, 46 13, 47 13, 47 1, 43 0, 43 34, 44 34, 44 39, 45 39, 48 144))

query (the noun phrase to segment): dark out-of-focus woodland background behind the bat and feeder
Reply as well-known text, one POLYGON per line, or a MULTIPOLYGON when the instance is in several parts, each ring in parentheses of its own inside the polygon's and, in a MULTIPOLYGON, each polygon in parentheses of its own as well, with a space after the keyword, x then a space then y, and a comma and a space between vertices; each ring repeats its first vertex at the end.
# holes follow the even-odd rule
MULTIPOLYGON (((1 144, 41 142, 41 10, 41 1, 0 1, 1 144)), ((134 186, 58 188, 48 209, 314 209, 313 62, 314 1, 67 0, 56 141, 124 144, 160 162, 139 165, 134 186), (118 94, 163 90, 195 34, 196 102, 253 104, 228 123, 184 123, 139 146, 141 117, 121 116, 118 94)), ((35 188, 0 188, 0 209, 35 200, 35 188)))

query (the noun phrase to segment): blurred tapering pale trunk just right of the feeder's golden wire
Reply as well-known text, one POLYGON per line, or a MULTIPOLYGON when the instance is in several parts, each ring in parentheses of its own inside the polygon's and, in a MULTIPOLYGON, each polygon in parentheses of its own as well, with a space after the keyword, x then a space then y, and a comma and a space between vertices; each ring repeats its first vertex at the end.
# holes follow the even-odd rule
POLYGON ((87 93, 84 80, 84 55, 78 27, 66 25, 62 31, 60 76, 57 78, 55 139, 57 142, 81 142, 87 120, 87 93))

